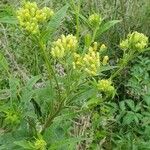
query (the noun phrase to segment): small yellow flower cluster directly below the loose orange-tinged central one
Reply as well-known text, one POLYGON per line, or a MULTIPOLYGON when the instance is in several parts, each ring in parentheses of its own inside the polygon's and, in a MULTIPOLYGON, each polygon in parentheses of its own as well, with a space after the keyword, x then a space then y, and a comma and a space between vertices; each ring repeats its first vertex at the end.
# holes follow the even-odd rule
POLYGON ((114 86, 112 86, 112 82, 110 80, 102 79, 97 83, 97 88, 99 91, 112 94, 115 90, 114 86))

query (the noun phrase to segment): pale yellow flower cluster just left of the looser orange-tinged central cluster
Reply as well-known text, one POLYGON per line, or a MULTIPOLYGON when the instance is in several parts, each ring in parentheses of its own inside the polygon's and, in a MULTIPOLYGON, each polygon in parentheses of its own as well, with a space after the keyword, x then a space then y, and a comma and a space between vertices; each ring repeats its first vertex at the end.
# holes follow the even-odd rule
POLYGON ((53 42, 51 54, 54 58, 63 58, 70 52, 76 50, 78 41, 75 36, 69 34, 67 36, 62 35, 60 39, 53 42))

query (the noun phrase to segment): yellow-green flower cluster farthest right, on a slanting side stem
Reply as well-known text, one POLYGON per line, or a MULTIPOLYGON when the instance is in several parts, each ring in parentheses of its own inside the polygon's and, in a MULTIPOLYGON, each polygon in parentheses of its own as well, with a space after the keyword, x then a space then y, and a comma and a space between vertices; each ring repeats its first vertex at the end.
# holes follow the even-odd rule
POLYGON ((123 50, 133 49, 142 51, 148 46, 148 37, 143 33, 133 32, 128 34, 127 39, 120 43, 120 48, 123 50))

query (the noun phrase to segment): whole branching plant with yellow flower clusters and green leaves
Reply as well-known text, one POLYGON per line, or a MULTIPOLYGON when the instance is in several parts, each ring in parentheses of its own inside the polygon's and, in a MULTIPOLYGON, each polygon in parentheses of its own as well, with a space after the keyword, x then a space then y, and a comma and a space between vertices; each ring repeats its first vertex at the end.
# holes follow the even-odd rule
MULTIPOLYGON (((32 77, 26 84, 20 84, 19 79, 12 80, 13 77, 10 80, 9 86, 14 91, 10 90, 10 102, 0 112, 4 132, 23 134, 21 138, 13 139, 13 149, 56 149, 53 130, 66 123, 63 122, 66 116, 91 113, 100 106, 101 111, 107 113, 105 103, 117 93, 114 78, 148 47, 148 38, 144 34, 130 33, 119 46, 123 50, 123 57, 116 66, 110 65, 109 48, 97 41, 97 34, 109 29, 114 22, 107 27, 96 13, 86 18, 90 32, 82 44, 79 28, 76 33, 62 34, 52 42, 53 24, 57 22, 57 27, 58 22, 61 23, 62 16, 59 16, 65 14, 67 9, 68 6, 64 6, 55 13, 48 7, 39 8, 35 2, 25 2, 16 13, 21 31, 27 33, 27 38, 37 49, 38 57, 44 61, 46 75, 32 77), (40 81, 44 82, 42 87, 37 86, 40 81), (9 108, 9 105, 12 107, 9 108)), ((96 117, 95 114, 92 117, 96 117)), ((63 129, 65 136, 64 130, 69 129, 63 129)), ((72 143, 82 140, 85 139, 73 138, 72 143)))

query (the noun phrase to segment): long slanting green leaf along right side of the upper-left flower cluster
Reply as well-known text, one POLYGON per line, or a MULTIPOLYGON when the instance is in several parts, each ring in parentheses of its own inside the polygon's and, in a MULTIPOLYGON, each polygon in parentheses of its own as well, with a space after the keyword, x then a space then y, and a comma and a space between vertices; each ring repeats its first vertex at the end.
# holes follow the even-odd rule
POLYGON ((65 5, 62 7, 50 20, 50 22, 47 25, 46 32, 42 35, 42 38, 44 41, 47 41, 51 38, 52 34, 59 28, 62 20, 66 16, 66 12, 68 10, 69 5, 65 5))

